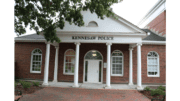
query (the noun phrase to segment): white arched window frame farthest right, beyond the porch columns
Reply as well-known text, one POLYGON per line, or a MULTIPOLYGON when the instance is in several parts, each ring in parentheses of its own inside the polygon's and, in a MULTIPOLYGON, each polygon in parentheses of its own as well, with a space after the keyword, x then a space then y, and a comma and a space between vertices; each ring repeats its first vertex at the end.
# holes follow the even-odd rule
MULTIPOLYGON (((155 52, 155 51, 150 51, 150 52, 155 52)), ((149 54, 150 52, 148 52, 148 54, 149 54)), ((157 52, 155 52, 155 53, 157 54, 157 57, 148 57, 148 54, 147 54, 147 76, 148 76, 148 77, 160 77, 159 54, 158 54, 157 52), (158 73, 157 73, 157 74, 158 74, 158 75, 149 75, 149 74, 148 74, 148 60, 149 60, 148 58, 157 58, 157 62, 158 62, 158 63, 157 63, 157 69, 158 69, 158 71, 157 71, 158 73)))

